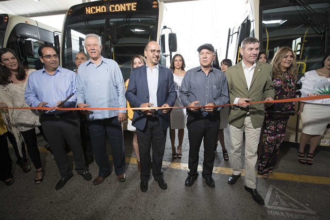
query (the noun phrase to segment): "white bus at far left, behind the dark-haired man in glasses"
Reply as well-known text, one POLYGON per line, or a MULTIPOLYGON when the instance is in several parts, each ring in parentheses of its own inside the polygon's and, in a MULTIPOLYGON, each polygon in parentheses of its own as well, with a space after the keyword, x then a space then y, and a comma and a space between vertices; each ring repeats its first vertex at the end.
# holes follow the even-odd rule
POLYGON ((13 50, 24 66, 43 68, 38 48, 42 44, 55 45, 54 40, 59 42, 60 34, 60 30, 31 18, 0 14, 0 48, 13 50))

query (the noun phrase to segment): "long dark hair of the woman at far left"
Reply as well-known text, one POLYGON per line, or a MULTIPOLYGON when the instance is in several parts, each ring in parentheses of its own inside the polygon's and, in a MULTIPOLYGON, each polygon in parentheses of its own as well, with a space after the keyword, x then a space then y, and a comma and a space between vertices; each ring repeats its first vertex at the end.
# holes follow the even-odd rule
MULTIPOLYGON (((16 73, 16 79, 19 81, 22 81, 25 79, 26 74, 25 74, 25 68, 22 64, 22 62, 20 62, 20 60, 18 59, 17 55, 15 54, 14 51, 8 49, 8 48, 0 48, 0 63, 1 62, 1 57, 4 53, 7 52, 11 52, 14 54, 16 60, 17 60, 17 64, 18 64, 18 68, 17 68, 17 73, 16 73)), ((8 85, 11 83, 11 81, 9 81, 9 77, 12 74, 10 73, 9 69, 6 68, 5 66, 0 65, 0 85, 8 85)))

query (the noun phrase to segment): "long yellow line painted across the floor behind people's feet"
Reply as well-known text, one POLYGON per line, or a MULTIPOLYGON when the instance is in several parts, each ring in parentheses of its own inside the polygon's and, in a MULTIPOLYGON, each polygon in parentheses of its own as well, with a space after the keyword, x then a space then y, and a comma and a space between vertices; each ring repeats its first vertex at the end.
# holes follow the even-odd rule
MULTIPOLYGON (((12 148, 11 144, 8 144, 8 146, 12 148)), ((40 152, 50 153, 44 147, 38 147, 38 148, 39 148, 40 152)), ((72 155, 72 152, 69 152, 68 155, 72 155)), ((109 159, 112 161, 112 155, 109 155, 109 159)), ((135 157, 126 157, 125 161, 126 161, 126 163, 129 163, 129 164, 136 164, 136 158, 135 157)), ((163 161, 163 168, 188 170, 188 164, 163 161)), ((198 171, 201 171, 202 168, 203 168, 203 166, 199 165, 198 166, 198 171)), ((225 168, 225 167, 214 167, 213 172, 216 173, 216 174, 231 175, 232 174, 232 169, 231 168, 225 168)), ((243 169, 241 175, 242 176, 245 175, 245 170, 244 169, 243 169)), ((258 174, 257 174, 257 177, 262 178, 258 174)), ((286 180, 286 181, 293 181, 293 182, 300 182, 300 183, 330 185, 330 178, 328 178, 328 177, 299 175, 299 174, 293 174, 293 173, 273 172, 273 175, 269 176, 269 179, 286 180)))

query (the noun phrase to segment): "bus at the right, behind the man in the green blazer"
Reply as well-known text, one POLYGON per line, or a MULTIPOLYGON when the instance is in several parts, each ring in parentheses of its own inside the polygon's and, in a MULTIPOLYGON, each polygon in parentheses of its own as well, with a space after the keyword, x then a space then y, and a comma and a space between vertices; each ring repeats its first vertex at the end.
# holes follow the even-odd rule
MULTIPOLYGON (((226 51, 226 58, 235 64, 241 60, 241 42, 248 36, 259 39, 260 51, 266 52, 269 61, 280 47, 291 47, 297 55, 298 78, 321 68, 322 58, 330 51, 329 0, 247 0, 238 15, 229 29, 226 51)), ((299 117, 290 117, 284 140, 299 142, 300 134, 299 117)), ((321 139, 330 140, 329 129, 321 139)))

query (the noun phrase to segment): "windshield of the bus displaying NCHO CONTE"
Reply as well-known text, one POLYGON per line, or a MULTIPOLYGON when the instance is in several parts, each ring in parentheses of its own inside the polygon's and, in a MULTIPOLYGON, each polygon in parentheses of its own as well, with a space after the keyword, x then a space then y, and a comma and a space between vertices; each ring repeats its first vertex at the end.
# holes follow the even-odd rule
POLYGON ((75 69, 75 54, 79 51, 86 52, 83 42, 85 35, 97 34, 102 42, 102 56, 115 60, 121 68, 123 78, 129 78, 132 57, 142 55, 145 45, 150 40, 156 40, 156 17, 98 18, 82 17, 79 22, 66 24, 62 66, 75 69))

